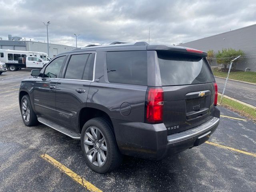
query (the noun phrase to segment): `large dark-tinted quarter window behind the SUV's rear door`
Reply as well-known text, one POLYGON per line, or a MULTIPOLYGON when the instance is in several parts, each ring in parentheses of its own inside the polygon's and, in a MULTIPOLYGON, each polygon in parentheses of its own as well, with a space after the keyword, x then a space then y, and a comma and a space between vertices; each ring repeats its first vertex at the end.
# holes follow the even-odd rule
POLYGON ((108 52, 107 72, 109 82, 134 85, 147 85, 147 52, 108 52))

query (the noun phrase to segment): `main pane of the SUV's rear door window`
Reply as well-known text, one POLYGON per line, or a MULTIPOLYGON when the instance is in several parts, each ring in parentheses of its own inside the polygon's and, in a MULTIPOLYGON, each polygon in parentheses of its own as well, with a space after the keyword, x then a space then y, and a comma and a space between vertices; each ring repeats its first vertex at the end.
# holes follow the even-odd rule
POLYGON ((65 74, 65 79, 82 79, 89 54, 72 55, 65 74))

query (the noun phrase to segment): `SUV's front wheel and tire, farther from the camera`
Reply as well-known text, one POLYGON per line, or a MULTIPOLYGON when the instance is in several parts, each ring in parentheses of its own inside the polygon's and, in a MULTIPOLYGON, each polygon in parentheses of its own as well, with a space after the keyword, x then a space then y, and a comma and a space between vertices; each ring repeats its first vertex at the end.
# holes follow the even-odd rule
POLYGON ((20 112, 21 117, 26 126, 35 126, 38 124, 38 120, 35 112, 33 111, 30 97, 28 95, 24 95, 20 102, 20 112))

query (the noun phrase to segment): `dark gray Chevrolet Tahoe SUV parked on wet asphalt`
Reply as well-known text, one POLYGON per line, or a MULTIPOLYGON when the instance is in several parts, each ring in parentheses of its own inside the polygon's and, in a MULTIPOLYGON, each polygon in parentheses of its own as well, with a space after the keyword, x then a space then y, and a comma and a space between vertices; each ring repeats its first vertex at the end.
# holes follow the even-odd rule
POLYGON ((165 158, 204 143, 219 124, 206 56, 146 42, 59 54, 21 82, 22 119, 80 139, 88 166, 98 173, 117 168, 121 154, 165 158))

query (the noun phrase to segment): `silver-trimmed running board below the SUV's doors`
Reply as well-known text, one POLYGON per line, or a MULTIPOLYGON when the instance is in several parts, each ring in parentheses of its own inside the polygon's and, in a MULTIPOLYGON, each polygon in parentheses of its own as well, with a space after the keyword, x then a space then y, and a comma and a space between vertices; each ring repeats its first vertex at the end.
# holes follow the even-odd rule
POLYGON ((73 139, 80 139, 80 137, 81 137, 81 134, 76 133, 76 132, 74 132, 72 130, 69 130, 69 129, 65 128, 65 127, 62 127, 62 126, 60 126, 60 125, 58 125, 58 124, 56 124, 56 123, 54 123, 54 122, 52 122, 50 120, 47 120, 47 119, 42 118, 42 117, 38 117, 37 119, 38 119, 38 121, 40 123, 42 123, 42 124, 44 124, 44 125, 46 125, 46 126, 48 126, 50 128, 53 128, 53 129, 55 129, 55 130, 65 134, 65 135, 73 138, 73 139))

